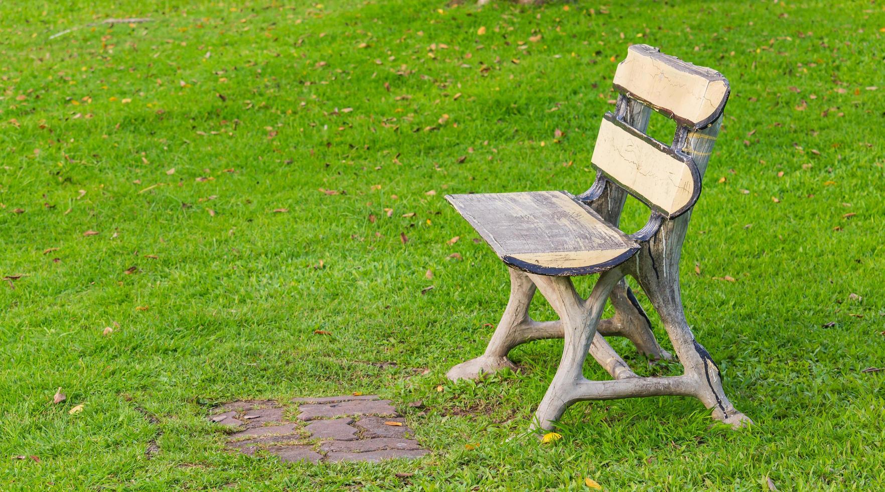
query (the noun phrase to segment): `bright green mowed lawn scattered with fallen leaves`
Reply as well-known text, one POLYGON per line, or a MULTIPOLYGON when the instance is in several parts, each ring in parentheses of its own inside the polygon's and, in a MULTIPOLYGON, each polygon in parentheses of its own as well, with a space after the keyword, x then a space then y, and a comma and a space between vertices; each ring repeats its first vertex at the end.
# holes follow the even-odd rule
POLYGON ((116 4, 0 6, 0 488, 885 487, 881 4, 116 4), (122 17, 152 21, 101 24, 122 17), (443 196, 589 187, 635 42, 731 81, 682 291, 757 425, 591 402, 543 444, 521 434, 561 341, 444 377, 509 283, 443 196), (206 420, 351 392, 393 399, 432 454, 284 465, 206 420))

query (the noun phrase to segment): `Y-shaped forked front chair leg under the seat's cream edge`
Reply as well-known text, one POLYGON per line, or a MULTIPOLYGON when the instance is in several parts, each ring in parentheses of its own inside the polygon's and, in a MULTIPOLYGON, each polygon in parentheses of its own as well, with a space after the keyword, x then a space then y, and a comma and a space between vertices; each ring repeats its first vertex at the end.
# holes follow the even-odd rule
POLYGON ((575 292, 568 277, 529 275, 550 302, 553 311, 559 315, 566 338, 557 373, 535 411, 533 430, 552 428, 552 422, 562 417, 566 408, 580 399, 578 388, 587 381, 582 368, 596 334, 596 325, 606 298, 622 276, 617 269, 602 273, 585 301, 575 292))

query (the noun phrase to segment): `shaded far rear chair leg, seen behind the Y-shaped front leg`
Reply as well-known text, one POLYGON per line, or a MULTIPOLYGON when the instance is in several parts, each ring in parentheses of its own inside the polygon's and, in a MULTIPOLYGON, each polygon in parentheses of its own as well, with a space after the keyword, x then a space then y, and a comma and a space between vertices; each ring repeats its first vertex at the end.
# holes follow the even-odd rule
POLYGON ((673 359, 673 355, 662 349, 655 338, 654 332, 651 331, 651 321, 645 314, 643 306, 636 300, 633 291, 627 286, 626 280, 618 282, 609 298, 614 307, 614 316, 599 321, 599 334, 623 336, 635 345, 640 354, 650 359, 673 359))

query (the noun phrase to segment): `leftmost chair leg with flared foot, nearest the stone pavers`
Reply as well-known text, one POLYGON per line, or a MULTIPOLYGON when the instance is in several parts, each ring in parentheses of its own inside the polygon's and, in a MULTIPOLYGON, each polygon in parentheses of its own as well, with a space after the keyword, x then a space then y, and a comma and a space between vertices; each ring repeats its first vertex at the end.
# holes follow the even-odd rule
POLYGON ((562 337, 559 321, 535 321, 528 316, 528 305, 535 296, 535 283, 528 274, 515 268, 510 270, 510 301, 501 321, 489 341, 489 346, 480 357, 473 358, 452 367, 446 377, 451 381, 459 379, 475 380, 482 374, 495 373, 504 367, 516 370, 516 365, 507 358, 513 347, 541 338, 562 337))

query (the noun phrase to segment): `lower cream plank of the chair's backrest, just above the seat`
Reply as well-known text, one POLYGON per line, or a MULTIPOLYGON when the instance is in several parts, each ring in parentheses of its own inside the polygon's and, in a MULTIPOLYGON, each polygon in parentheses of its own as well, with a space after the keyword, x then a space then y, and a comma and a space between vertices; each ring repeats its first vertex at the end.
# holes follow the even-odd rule
POLYGON ((607 113, 593 148, 593 165, 668 217, 695 204, 701 178, 691 158, 607 113))

